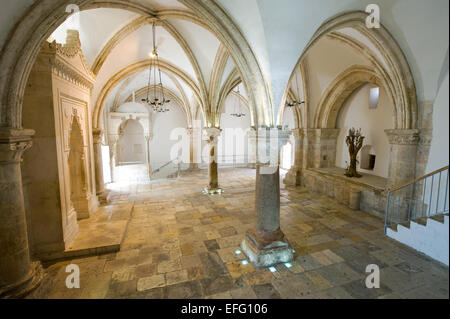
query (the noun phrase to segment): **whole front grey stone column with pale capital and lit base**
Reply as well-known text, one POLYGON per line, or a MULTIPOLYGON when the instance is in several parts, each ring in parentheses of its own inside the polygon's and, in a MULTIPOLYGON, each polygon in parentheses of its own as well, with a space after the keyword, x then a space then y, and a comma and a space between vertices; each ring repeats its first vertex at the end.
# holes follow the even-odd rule
POLYGON ((249 138, 256 145, 256 215, 242 249, 256 267, 269 267, 293 259, 293 252, 280 228, 280 151, 290 131, 260 129, 249 138), (270 153, 270 155, 268 155, 270 153))

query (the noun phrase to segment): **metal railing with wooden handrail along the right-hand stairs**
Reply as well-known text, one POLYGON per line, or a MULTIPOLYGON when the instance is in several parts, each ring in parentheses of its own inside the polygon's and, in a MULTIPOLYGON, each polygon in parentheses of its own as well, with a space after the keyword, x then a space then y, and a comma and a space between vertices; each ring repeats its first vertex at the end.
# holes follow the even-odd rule
POLYGON ((394 225, 448 213, 448 196, 448 166, 390 189, 386 203, 385 233, 388 227, 394 225))

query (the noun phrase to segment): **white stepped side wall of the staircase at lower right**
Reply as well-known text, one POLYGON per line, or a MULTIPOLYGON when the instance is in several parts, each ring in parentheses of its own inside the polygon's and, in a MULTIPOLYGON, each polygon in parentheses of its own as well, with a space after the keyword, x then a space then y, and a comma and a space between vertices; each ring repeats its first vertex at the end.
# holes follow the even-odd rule
POLYGON ((428 219, 427 225, 411 223, 410 228, 399 225, 397 232, 388 228, 387 235, 417 251, 449 265, 449 217, 440 223, 428 219))

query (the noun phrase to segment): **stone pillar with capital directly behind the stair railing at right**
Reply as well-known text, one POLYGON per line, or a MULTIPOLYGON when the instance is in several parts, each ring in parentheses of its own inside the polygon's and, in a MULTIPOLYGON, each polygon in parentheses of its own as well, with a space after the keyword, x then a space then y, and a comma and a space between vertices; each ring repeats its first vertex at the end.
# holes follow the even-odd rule
POLYGON ((391 145, 387 187, 393 188, 416 177, 419 130, 386 130, 385 132, 391 145))

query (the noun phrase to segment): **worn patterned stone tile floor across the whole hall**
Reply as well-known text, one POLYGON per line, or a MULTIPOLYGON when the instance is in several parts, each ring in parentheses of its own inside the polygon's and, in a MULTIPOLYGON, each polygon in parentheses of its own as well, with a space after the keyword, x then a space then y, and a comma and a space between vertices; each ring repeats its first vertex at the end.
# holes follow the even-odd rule
POLYGON ((220 170, 221 196, 201 189, 207 171, 176 181, 114 185, 116 204, 134 209, 120 252, 46 266, 29 298, 448 298, 448 267, 383 235, 383 222, 304 188, 282 187, 281 223, 296 250, 292 268, 271 273, 237 255, 255 222, 255 171, 220 170), (77 264, 81 288, 67 289, 77 264), (365 269, 381 269, 381 288, 365 269))

